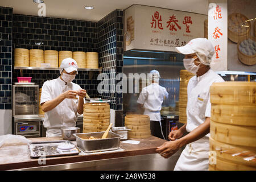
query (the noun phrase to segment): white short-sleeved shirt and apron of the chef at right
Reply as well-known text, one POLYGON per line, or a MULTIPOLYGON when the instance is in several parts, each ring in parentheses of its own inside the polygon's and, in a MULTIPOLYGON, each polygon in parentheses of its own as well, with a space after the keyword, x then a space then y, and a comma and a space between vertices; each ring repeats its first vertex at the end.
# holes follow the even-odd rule
MULTIPOLYGON (((187 126, 191 132, 210 117, 210 85, 213 82, 224 82, 217 73, 209 69, 202 76, 194 76, 188 82, 187 126)), ((174 170, 208 170, 209 166, 209 136, 187 144, 180 155, 174 170)))

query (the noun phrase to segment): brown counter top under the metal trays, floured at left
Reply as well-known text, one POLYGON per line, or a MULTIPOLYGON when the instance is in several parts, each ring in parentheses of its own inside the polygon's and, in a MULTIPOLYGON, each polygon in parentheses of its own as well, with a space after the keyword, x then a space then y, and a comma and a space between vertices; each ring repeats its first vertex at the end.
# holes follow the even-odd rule
MULTIPOLYGON (((62 140, 61 137, 30 138, 32 142, 62 140)), ((38 159, 31 159, 28 154, 27 145, 3 146, 0 148, 0 170, 31 168, 51 166, 55 164, 86 162, 91 160, 102 160, 112 158, 123 158, 127 156, 138 156, 155 154, 156 147, 162 145, 166 140, 151 136, 147 139, 135 139, 139 144, 120 143, 123 151, 113 151, 101 154, 73 155, 46 158, 46 164, 39 164, 38 159)))

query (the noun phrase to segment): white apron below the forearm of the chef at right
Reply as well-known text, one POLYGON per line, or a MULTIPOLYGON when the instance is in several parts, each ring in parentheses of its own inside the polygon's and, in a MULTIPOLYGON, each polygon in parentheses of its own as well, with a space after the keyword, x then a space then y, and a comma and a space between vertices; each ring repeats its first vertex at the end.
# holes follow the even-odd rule
POLYGON ((177 160, 174 171, 207 171, 209 169, 209 138, 187 144, 177 160))

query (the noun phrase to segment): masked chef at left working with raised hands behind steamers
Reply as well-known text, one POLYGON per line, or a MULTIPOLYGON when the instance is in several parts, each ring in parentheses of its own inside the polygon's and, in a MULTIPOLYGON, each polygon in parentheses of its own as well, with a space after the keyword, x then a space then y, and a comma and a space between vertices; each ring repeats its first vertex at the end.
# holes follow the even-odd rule
POLYGON ((77 73, 76 61, 67 58, 61 62, 61 75, 43 84, 40 105, 46 113, 46 137, 61 137, 61 128, 76 126, 77 113, 83 113, 86 90, 72 82, 77 73))

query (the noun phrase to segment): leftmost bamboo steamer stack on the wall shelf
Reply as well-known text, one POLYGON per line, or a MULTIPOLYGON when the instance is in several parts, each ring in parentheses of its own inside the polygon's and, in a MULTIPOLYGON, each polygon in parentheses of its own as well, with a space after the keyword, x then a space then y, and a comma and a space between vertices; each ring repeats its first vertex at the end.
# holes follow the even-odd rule
POLYGON ((23 48, 14 49, 14 67, 29 67, 30 66, 30 51, 23 48))

